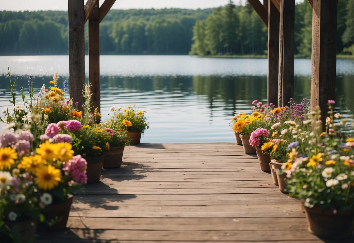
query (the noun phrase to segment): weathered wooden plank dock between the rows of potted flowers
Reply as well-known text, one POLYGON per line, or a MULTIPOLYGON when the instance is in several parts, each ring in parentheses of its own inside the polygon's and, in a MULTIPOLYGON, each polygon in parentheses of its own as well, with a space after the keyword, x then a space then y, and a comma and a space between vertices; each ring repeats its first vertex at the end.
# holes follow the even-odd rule
POLYGON ((309 233, 299 201, 236 143, 128 146, 121 168, 85 189, 70 229, 36 242, 339 242, 309 233))

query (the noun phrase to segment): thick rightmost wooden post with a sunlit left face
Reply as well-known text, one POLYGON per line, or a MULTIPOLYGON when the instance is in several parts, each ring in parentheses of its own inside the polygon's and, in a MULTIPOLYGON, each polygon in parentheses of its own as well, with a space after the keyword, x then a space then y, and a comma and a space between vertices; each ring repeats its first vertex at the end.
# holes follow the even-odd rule
POLYGON ((337 1, 313 0, 311 110, 320 106, 323 130, 327 101, 335 99, 337 52, 337 1))

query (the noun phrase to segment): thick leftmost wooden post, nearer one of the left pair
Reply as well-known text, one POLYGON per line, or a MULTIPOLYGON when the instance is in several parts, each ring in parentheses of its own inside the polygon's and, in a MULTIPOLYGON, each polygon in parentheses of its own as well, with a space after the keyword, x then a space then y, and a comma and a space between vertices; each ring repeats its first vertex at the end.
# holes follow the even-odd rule
POLYGON ((84 0, 68 0, 70 98, 82 108, 85 84, 84 0))

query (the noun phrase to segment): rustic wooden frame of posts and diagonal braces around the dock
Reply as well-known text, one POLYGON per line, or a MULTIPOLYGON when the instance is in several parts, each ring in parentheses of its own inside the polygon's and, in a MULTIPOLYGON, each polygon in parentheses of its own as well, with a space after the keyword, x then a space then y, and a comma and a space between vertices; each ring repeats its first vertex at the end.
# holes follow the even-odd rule
MULTIPOLYGON (((268 102, 285 106, 294 94, 295 0, 248 0, 268 27, 268 102)), ((313 8, 311 109, 327 114, 327 100, 335 99, 337 1, 308 0, 313 8)), ((89 20, 89 80, 93 106, 100 110, 99 23, 115 0, 68 0, 70 97, 83 103, 85 84, 84 24, 89 20)))

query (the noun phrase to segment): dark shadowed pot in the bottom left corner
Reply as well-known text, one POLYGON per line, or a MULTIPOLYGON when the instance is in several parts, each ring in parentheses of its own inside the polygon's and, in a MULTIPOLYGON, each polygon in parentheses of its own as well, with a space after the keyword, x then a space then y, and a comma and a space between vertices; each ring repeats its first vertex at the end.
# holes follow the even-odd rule
MULTIPOLYGON (((34 234, 37 227, 37 219, 27 219, 23 221, 5 221, 5 225, 12 231, 15 227, 18 229, 20 242, 34 242, 34 234)), ((0 232, 0 242, 12 242, 12 239, 7 234, 0 232)))

